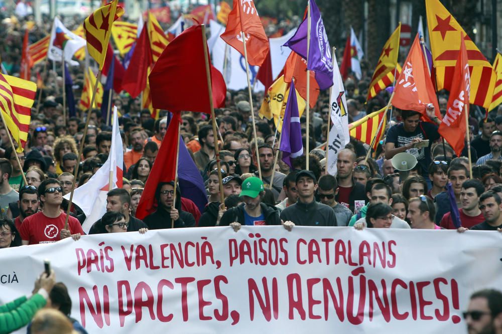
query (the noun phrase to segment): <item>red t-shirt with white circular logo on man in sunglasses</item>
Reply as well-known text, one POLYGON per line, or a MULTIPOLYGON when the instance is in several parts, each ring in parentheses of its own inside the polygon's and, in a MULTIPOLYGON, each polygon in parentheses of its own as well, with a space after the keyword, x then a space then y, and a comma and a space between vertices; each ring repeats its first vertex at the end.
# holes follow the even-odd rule
MULTIPOLYGON (((19 233, 22 240, 28 240, 30 245, 36 243, 50 243, 61 240, 59 233, 64 229, 66 213, 61 212, 57 218, 47 217, 43 211, 28 216, 23 220, 19 233)), ((70 216, 68 229, 71 234, 85 234, 77 218, 70 216)))

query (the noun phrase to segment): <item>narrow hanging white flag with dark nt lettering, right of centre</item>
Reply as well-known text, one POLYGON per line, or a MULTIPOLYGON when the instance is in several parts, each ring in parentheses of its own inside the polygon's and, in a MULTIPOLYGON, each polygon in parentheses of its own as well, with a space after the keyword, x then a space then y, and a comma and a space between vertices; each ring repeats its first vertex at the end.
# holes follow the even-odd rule
POLYGON ((333 57, 333 86, 331 87, 331 99, 329 101, 329 106, 333 126, 329 131, 329 142, 326 144, 328 146, 326 171, 328 174, 336 176, 336 161, 338 160, 338 152, 340 152, 340 150, 342 150, 350 141, 348 132, 347 100, 345 98, 345 88, 343 88, 340 69, 336 63, 336 57, 333 57))

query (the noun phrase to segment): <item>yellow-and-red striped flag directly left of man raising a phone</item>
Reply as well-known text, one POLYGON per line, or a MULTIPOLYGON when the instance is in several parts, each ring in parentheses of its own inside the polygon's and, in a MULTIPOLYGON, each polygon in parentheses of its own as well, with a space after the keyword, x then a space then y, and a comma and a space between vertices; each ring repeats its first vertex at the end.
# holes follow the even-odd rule
POLYGON ((385 132, 385 124, 387 122, 387 106, 375 111, 369 115, 364 116, 358 121, 350 123, 348 128, 350 130, 350 137, 354 137, 357 140, 360 140, 363 143, 371 145, 371 141, 373 137, 376 136, 376 140, 373 145, 373 149, 378 146, 378 143, 385 132), (377 133, 378 125, 384 119, 382 123, 382 128, 377 133))

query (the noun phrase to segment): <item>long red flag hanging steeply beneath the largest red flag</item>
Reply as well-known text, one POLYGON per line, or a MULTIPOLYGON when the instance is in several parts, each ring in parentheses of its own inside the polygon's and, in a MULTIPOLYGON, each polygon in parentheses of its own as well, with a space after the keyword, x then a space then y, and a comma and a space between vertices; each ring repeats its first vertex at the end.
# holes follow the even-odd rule
POLYGON ((157 185, 160 182, 174 181, 176 177, 176 154, 178 153, 177 138, 180 136, 180 122, 181 112, 173 112, 173 118, 169 123, 166 136, 164 137, 165 140, 160 144, 159 154, 155 159, 155 164, 152 166, 147 183, 145 184, 145 189, 141 195, 140 203, 136 209, 136 218, 138 219, 143 220, 157 209, 157 200, 155 198, 157 185))

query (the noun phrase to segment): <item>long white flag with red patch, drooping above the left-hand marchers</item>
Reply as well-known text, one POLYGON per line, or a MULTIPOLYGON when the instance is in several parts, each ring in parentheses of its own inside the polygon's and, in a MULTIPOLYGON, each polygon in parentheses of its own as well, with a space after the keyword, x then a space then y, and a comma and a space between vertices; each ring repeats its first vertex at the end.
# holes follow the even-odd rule
MULTIPOLYGON (((85 213, 82 229, 88 233, 92 224, 100 219, 106 212, 106 193, 109 189, 109 177, 112 174, 111 188, 118 188, 123 175, 123 148, 122 137, 118 128, 117 107, 113 107, 113 130, 111 137, 110 154, 106 162, 99 168, 86 184, 79 186, 73 193, 73 203, 78 205, 85 213)), ((70 194, 64 196, 70 199, 70 194)))

